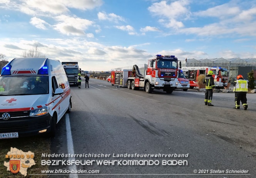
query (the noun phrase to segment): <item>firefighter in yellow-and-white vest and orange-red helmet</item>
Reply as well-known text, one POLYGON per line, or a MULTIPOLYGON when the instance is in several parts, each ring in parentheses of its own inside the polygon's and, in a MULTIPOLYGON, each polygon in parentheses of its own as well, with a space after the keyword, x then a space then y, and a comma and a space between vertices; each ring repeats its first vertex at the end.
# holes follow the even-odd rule
POLYGON ((243 104, 244 110, 247 110, 247 98, 246 93, 248 92, 248 81, 244 80, 242 75, 238 75, 236 77, 236 81, 234 81, 234 89, 235 92, 235 104, 234 109, 240 109, 240 101, 243 104))

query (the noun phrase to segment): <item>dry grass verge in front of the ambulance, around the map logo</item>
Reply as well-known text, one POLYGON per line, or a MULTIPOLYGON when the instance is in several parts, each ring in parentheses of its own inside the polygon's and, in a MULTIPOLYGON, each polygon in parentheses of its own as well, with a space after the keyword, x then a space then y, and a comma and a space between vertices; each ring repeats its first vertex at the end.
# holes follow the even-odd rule
POLYGON ((42 166, 42 153, 50 153, 50 138, 45 137, 23 137, 0 140, 0 178, 24 178, 21 173, 13 174, 7 171, 4 162, 9 162, 9 158, 5 155, 10 151, 11 147, 15 147, 23 152, 31 151, 35 154, 35 165, 27 169, 26 178, 47 178, 47 175, 31 175, 41 174, 41 170, 48 170, 48 166, 42 166))

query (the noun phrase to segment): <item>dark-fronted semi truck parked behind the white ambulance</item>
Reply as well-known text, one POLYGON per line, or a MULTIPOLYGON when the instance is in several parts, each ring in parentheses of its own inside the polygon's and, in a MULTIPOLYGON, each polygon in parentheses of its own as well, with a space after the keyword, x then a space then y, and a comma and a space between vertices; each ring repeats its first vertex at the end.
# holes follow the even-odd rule
POLYGON ((69 84, 78 86, 77 76, 81 73, 78 62, 62 62, 61 64, 65 70, 69 84))

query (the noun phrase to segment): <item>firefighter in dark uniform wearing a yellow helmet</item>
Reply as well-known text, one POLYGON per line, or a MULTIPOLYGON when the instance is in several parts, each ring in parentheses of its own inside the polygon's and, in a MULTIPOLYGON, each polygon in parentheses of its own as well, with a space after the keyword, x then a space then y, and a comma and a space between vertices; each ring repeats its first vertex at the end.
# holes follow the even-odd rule
POLYGON ((205 94, 204 94, 204 104, 208 106, 213 106, 212 104, 212 94, 215 88, 214 78, 212 77, 213 72, 209 71, 205 77, 203 83, 205 83, 205 94))

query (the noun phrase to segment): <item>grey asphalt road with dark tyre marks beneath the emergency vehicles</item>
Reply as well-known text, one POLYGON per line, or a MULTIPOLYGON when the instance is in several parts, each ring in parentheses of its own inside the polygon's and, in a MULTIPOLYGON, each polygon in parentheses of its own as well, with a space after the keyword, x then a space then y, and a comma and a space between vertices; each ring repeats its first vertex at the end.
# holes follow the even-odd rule
POLYGON ((147 94, 142 89, 117 88, 98 79, 90 79, 90 88, 84 86, 82 82, 81 89, 71 87, 72 111, 58 123, 52 153, 107 156, 61 158, 95 162, 50 169, 99 173, 60 177, 256 177, 256 94, 248 94, 248 110, 235 110, 232 93, 214 93, 214 107, 209 107, 204 105, 204 93, 195 89, 147 94), (125 153, 140 157, 114 157, 125 153), (110 160, 106 161, 110 165, 97 165, 101 160, 110 160), (121 160, 121 165, 111 165, 111 160, 121 160), (154 165, 125 165, 128 160, 152 160, 154 165), (165 160, 170 164, 175 164, 171 160, 182 160, 185 165, 163 165, 165 160), (246 172, 236 175, 226 170, 246 172))

